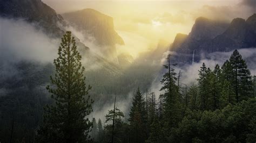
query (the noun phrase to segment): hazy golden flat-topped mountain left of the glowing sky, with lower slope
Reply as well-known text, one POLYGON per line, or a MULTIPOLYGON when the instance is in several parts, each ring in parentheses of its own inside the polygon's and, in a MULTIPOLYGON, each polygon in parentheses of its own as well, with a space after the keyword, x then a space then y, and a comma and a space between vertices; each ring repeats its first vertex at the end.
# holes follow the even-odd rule
POLYGON ((124 45, 124 40, 114 30, 112 17, 93 9, 64 13, 62 16, 72 27, 83 33, 86 41, 98 45, 97 52, 118 63, 116 44, 124 45))

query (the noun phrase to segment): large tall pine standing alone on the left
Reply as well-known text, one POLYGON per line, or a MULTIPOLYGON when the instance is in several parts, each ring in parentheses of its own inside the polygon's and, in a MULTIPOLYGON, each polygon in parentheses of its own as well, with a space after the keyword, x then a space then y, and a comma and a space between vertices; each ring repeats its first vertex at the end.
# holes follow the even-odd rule
POLYGON ((53 86, 46 87, 55 101, 46 105, 44 123, 38 130, 37 142, 83 142, 89 139, 92 123, 85 118, 92 112, 93 101, 88 96, 90 85, 85 84, 82 56, 77 51, 71 32, 63 35, 54 60, 53 86))

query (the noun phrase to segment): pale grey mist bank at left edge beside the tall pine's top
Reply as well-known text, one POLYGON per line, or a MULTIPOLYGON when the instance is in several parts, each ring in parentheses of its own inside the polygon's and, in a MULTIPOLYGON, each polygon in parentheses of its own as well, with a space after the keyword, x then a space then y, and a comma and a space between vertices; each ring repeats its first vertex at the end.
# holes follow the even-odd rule
POLYGON ((0 18, 0 59, 5 61, 52 62, 57 55, 57 39, 50 39, 24 20, 0 18))

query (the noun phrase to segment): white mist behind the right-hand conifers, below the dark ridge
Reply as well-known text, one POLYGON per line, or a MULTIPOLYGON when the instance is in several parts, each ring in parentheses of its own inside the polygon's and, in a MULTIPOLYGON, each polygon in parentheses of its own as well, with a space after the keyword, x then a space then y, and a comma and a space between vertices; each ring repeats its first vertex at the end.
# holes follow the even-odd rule
MULTIPOLYGON (((239 53, 242 55, 242 58, 245 59, 247 62, 248 69, 251 71, 251 75, 256 75, 256 48, 244 48, 244 49, 238 49, 239 53)), ((214 69, 216 64, 218 64, 220 67, 223 66, 223 63, 226 60, 230 59, 230 56, 233 51, 231 52, 214 52, 207 56, 207 59, 202 59, 199 62, 195 62, 193 65, 185 65, 182 67, 173 67, 178 73, 181 71, 181 78, 180 82, 187 84, 188 87, 192 84, 197 84, 197 78, 198 76, 198 70, 200 67, 205 63, 206 67, 209 67, 211 69, 214 69)), ((168 52, 164 53, 164 55, 169 54, 168 52)), ((166 61, 166 59, 165 59, 166 61)), ((163 64, 163 62, 162 62, 163 64)), ((163 74, 167 72, 166 69, 162 69, 158 75, 156 75, 154 81, 151 84, 150 92, 155 92, 156 96, 159 97, 160 94, 163 94, 163 91, 159 91, 160 88, 163 86, 161 85, 160 81, 161 78, 163 78, 163 74)), ((181 85, 184 86, 184 85, 181 85)))

